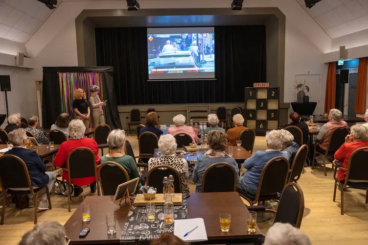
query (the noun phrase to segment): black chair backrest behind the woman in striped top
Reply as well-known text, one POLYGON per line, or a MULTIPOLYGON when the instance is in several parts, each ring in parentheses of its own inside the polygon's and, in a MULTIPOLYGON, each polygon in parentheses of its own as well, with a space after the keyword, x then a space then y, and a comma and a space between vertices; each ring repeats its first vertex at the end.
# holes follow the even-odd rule
POLYGON ((228 163, 209 166, 202 178, 202 193, 236 192, 237 173, 228 163))

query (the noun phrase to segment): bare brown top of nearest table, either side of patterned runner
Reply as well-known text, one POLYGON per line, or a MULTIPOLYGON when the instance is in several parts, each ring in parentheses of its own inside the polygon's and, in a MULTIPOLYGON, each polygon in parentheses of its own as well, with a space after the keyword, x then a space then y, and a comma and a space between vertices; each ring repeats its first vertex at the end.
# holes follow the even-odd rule
MULTIPOLYGON (((72 214, 64 227, 72 244, 119 244, 121 232, 128 215, 129 206, 120 207, 118 202, 112 202, 114 196, 87 196, 84 202, 90 204, 91 221, 82 222, 81 208, 72 214), (107 235, 106 214, 115 213, 116 233, 107 235), (79 232, 84 227, 90 228, 86 238, 79 238, 79 232)), ((227 244, 253 242, 262 236, 259 228, 256 232, 247 232, 247 207, 236 192, 229 193, 191 193, 186 199, 188 216, 203 218, 207 231, 207 242, 203 244, 227 244), (230 201, 231 200, 231 201, 230 201), (229 233, 223 233, 220 229, 219 214, 231 215, 229 233)))

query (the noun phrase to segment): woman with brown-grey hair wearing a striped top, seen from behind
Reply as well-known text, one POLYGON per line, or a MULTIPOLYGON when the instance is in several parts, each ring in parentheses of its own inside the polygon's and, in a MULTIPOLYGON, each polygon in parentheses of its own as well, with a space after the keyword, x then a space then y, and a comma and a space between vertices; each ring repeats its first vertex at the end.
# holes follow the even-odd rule
POLYGON ((215 163, 228 163, 230 164, 235 172, 239 181, 239 168, 235 159, 224 152, 228 143, 226 134, 223 131, 212 130, 208 133, 207 144, 209 150, 198 158, 194 169, 192 180, 196 183, 196 193, 202 192, 202 178, 209 166, 215 163))

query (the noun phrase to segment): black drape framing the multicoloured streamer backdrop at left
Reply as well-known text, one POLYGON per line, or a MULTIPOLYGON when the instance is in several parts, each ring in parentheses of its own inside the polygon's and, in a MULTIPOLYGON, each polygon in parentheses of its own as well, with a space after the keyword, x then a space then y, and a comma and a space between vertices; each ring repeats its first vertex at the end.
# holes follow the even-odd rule
POLYGON ((121 128, 114 91, 114 69, 112 67, 44 67, 42 82, 42 124, 44 128, 50 128, 61 113, 58 73, 79 72, 101 73, 104 98, 108 100, 105 106, 106 123, 113 129, 121 128))

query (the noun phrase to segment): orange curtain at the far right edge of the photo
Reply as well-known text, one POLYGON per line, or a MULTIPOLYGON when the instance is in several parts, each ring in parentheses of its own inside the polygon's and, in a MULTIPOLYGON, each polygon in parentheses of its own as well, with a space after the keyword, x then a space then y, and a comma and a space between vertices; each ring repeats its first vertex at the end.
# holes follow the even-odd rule
POLYGON ((355 97, 355 113, 366 113, 366 96, 367 96, 367 65, 368 57, 359 59, 357 94, 355 97))

